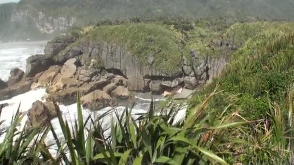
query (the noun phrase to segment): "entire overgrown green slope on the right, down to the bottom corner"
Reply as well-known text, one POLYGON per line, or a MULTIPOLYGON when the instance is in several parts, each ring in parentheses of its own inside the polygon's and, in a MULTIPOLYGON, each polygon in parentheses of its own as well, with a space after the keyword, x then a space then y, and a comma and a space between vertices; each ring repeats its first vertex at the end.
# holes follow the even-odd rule
POLYGON ((220 115, 220 109, 226 109, 227 114, 237 112, 258 121, 234 136, 244 141, 231 148, 239 153, 232 157, 233 162, 293 163, 293 27, 291 23, 232 26, 227 35, 235 33, 244 46, 221 76, 190 100, 191 107, 196 106, 219 85, 222 92, 207 103, 209 113, 220 115))

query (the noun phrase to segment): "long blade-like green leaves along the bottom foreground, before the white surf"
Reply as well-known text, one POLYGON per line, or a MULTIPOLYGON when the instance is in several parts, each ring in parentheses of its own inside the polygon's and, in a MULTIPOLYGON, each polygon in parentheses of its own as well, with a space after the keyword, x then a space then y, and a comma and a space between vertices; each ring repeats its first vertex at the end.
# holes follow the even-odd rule
POLYGON ((73 126, 62 119, 58 110, 63 140, 58 138, 52 126, 42 131, 38 128, 17 131, 17 124, 21 120, 17 112, 0 144, 0 161, 2 164, 64 162, 72 165, 227 164, 223 160, 226 152, 222 150, 225 148, 220 146, 232 142, 222 135, 221 130, 249 122, 235 122, 238 119, 232 116, 215 119, 207 116, 206 103, 216 94, 212 93, 185 121, 176 121, 175 118, 182 105, 172 104, 156 114, 151 103, 149 112, 137 114, 138 118, 131 115, 132 110, 126 109, 119 115, 114 109, 105 112, 97 120, 89 116, 84 122, 78 103, 78 118, 73 126), (105 129, 102 119, 109 114, 114 116, 109 128, 105 129), (86 127, 89 123, 91 126, 86 127), (44 143, 50 128, 56 140, 56 155, 52 155, 50 146, 44 143), (216 141, 215 137, 223 139, 216 141))

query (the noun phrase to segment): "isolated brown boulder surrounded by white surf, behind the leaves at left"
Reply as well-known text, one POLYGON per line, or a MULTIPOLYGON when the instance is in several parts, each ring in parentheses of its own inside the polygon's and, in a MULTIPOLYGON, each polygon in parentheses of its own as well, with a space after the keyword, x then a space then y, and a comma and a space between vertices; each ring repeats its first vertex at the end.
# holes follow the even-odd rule
POLYGON ((32 126, 45 126, 50 124, 50 121, 57 117, 55 106, 53 103, 43 103, 35 101, 32 108, 28 110, 28 124, 32 126))

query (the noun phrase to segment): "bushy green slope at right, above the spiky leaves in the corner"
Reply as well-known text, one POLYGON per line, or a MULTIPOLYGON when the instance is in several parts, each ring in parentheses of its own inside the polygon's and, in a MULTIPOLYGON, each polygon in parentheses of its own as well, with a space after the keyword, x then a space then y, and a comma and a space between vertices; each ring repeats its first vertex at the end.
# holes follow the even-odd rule
POLYGON ((287 88, 294 82, 293 28, 294 24, 288 23, 236 24, 230 28, 227 34, 234 29, 244 46, 235 52, 221 76, 195 94, 191 103, 197 104, 220 85, 222 95, 209 103, 210 111, 217 114, 219 108, 229 106, 228 112, 237 110, 256 120, 267 115, 268 99, 283 105, 287 88))

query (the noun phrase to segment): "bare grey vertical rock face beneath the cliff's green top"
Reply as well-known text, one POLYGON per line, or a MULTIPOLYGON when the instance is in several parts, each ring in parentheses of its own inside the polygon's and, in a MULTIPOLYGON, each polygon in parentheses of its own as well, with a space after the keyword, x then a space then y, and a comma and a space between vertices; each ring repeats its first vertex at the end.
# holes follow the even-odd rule
MULTIPOLYGON (((80 48, 82 54, 80 59, 83 65, 89 61, 99 61, 105 69, 119 70, 126 80, 115 80, 116 82, 114 83, 119 82, 118 85, 127 86, 131 91, 148 91, 152 87, 152 85, 150 86, 151 80, 159 80, 161 85, 166 87, 181 85, 184 83, 184 77, 191 79, 190 84, 187 85, 189 87, 197 87, 211 81, 212 78, 220 74, 225 64, 229 61, 228 56, 232 51, 229 46, 217 46, 221 47, 222 50, 222 55, 219 57, 212 58, 207 55, 198 55, 197 51, 191 51, 190 56, 183 56, 182 59, 178 59, 178 70, 170 73, 163 73, 153 69, 153 55, 148 55, 147 57, 150 65, 142 65, 134 55, 117 44, 83 39, 75 46, 75 49, 80 48), (171 80, 166 81, 164 80, 165 78, 171 80), (193 81, 194 78, 196 83, 193 81)), ((89 81, 88 78, 87 81, 89 81)), ((188 81, 186 80, 186 82, 188 81)), ((159 86, 153 86, 153 88, 156 91, 161 90, 159 86)))

